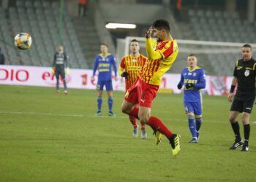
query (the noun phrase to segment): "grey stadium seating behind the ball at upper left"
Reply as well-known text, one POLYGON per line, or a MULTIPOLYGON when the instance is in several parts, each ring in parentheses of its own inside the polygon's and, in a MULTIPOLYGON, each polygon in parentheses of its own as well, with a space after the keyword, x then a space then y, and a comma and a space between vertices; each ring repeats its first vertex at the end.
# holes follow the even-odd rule
MULTIPOLYGON (((80 48, 72 18, 65 10, 62 23, 62 42, 69 55, 71 68, 89 68, 80 48)), ((59 44, 59 2, 16 0, 15 7, 0 9, 0 41, 6 54, 6 63, 24 66, 50 66, 59 44), (13 38, 19 32, 30 33, 33 46, 29 51, 13 47, 13 38)))

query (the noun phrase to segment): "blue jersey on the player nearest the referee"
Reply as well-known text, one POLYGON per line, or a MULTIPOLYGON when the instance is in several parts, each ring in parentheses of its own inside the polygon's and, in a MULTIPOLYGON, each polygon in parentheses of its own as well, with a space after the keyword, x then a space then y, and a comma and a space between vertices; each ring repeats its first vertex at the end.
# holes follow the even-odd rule
POLYGON ((179 84, 195 84, 195 87, 184 89, 184 102, 200 102, 202 103, 202 97, 200 89, 206 87, 206 74, 202 68, 196 66, 194 70, 189 70, 189 68, 184 68, 181 71, 181 81, 179 84))

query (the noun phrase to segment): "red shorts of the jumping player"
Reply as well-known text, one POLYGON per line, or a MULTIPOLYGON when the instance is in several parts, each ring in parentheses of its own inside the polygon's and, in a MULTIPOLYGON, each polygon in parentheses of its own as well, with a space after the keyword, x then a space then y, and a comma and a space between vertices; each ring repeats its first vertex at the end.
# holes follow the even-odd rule
POLYGON ((139 104, 139 106, 151 108, 154 98, 157 96, 158 85, 147 84, 138 79, 127 90, 124 100, 129 103, 139 104))

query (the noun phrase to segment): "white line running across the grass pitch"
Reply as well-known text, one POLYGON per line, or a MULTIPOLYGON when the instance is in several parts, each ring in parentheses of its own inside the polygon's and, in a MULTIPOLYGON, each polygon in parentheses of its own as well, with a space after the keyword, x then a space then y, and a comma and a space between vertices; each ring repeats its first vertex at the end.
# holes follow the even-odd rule
MULTIPOLYGON (((84 115, 84 114, 54 114, 54 113, 41 113, 41 112, 21 112, 21 111, 0 111, 0 114, 20 114, 20 115, 42 115, 42 116, 69 116, 69 117, 98 117, 98 118, 111 118, 111 119, 128 119, 127 116, 94 116, 94 115, 84 115)), ((175 122, 187 122, 187 119, 170 119, 170 118, 161 118, 162 121, 175 121, 175 122)), ((217 122, 214 120, 206 120, 203 122, 211 123, 222 123, 229 124, 229 122, 217 122)), ((256 124, 255 122, 252 122, 256 124)))

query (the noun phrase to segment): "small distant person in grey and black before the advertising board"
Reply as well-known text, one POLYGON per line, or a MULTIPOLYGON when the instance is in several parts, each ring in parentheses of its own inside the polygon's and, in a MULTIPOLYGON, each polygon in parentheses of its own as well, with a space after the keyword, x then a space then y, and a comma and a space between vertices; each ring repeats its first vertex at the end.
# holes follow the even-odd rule
POLYGON ((67 60, 68 56, 66 52, 64 52, 64 47, 59 45, 58 52, 54 54, 53 59, 53 70, 55 71, 56 76, 56 93, 59 93, 59 76, 63 79, 64 84, 64 93, 67 94, 67 83, 66 83, 66 75, 65 68, 67 68, 67 60))

